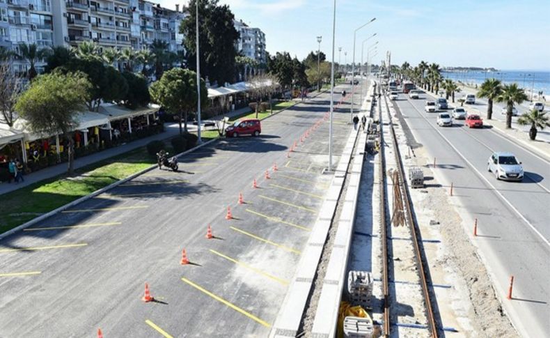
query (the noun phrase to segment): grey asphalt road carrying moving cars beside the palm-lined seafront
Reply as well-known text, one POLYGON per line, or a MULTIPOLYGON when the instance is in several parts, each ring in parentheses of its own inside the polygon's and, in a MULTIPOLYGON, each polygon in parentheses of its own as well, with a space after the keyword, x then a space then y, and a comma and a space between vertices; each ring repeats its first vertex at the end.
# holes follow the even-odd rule
POLYGON ((437 159, 440 183, 447 189, 453 183, 467 233, 478 219, 481 236, 472 240, 512 323, 525 337, 544 337, 550 332, 550 163, 490 127, 469 129, 463 121, 437 126, 437 113, 423 110, 425 97, 410 100, 401 93, 394 105, 416 142, 437 159), (503 182, 487 172, 492 151, 514 153, 523 162, 524 181, 503 182), (510 275, 514 299, 506 300, 510 275))

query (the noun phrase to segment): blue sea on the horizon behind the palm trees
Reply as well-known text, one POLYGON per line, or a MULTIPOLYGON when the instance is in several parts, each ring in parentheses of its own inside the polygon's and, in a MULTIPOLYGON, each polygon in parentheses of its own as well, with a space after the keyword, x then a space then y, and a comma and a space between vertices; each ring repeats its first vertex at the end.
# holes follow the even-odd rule
POLYGON ((504 84, 517 83, 518 86, 531 93, 531 89, 536 93, 542 91, 542 95, 548 98, 550 97, 550 71, 540 70, 496 70, 496 71, 483 71, 483 70, 470 70, 470 71, 443 71, 441 72, 443 77, 453 79, 455 81, 461 81, 465 84, 477 84, 478 86, 485 81, 485 79, 495 78, 500 79, 504 84))

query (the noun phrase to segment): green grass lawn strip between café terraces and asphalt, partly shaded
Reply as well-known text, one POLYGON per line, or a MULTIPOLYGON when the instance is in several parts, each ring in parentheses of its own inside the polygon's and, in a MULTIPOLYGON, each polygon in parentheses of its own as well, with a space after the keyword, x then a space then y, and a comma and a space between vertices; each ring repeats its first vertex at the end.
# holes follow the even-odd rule
POLYGON ((78 176, 73 178, 58 176, 2 194, 0 233, 135 174, 155 162, 145 147, 137 148, 81 168, 76 171, 78 176))

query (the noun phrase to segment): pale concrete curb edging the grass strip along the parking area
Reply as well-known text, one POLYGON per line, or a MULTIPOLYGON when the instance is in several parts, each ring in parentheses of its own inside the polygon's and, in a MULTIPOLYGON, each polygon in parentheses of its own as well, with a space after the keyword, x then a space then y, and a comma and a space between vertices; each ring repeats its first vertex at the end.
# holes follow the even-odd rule
MULTIPOLYGON (((205 143, 203 144, 200 144, 198 146, 195 146, 194 148, 191 148, 187 151, 184 151, 183 153, 179 153, 177 155, 175 155, 175 157, 179 158, 180 156, 182 155, 186 155, 187 153, 191 153, 193 151, 196 151, 196 149, 198 148, 202 148, 203 146, 206 146, 207 144, 211 144, 213 143, 214 141, 217 141, 219 140, 219 138, 216 138, 216 139, 211 139, 210 141, 206 141, 205 143)), ((41 215, 41 216, 38 216, 36 218, 33 218, 32 220, 30 220, 29 222, 26 222, 26 223, 23 223, 19 226, 16 226, 15 228, 11 229, 11 230, 8 230, 4 233, 0 233, 0 240, 2 238, 6 238, 8 236, 10 236, 11 234, 13 233, 16 233, 17 231, 19 230, 22 230, 22 229, 25 229, 25 228, 28 228, 29 226, 33 225, 33 224, 36 224, 38 222, 42 222, 43 220, 47 219, 48 217, 52 217, 53 215, 55 215, 56 213, 60 213, 61 211, 63 210, 67 210, 68 208, 72 207, 72 206, 76 206, 77 204, 79 203, 82 203, 84 201, 87 201, 88 199, 92 199, 93 197, 96 197, 97 195, 99 194, 102 194, 104 192, 106 192, 107 190, 111 190, 113 187, 116 187, 120 184, 123 184, 129 180, 132 180, 142 174, 145 174, 146 172, 148 171, 151 171, 152 169, 155 169, 157 168, 157 164, 154 164, 152 165, 151 167, 148 167, 146 169, 143 169, 139 172, 137 172, 136 174, 132 174, 126 178, 123 178, 122 180, 117 180, 116 182, 114 183, 111 183, 110 185, 107 185, 107 187, 102 187, 101 189, 99 190, 95 190, 95 192, 92 192, 91 194, 88 194, 84 197, 80 197, 79 199, 75 199, 74 201, 70 202, 70 203, 67 203, 65 204, 64 206, 60 206, 59 208, 56 208, 52 211, 50 211, 49 213, 45 213, 44 215, 41 215)))

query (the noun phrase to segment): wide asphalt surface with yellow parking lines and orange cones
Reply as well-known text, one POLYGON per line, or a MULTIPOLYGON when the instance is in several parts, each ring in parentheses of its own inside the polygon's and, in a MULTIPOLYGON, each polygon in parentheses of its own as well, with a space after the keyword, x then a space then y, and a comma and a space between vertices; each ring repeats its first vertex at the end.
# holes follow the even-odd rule
MULTIPOLYGON (((180 158, 180 172, 155 169, 1 240, 0 337, 93 337, 97 328, 105 337, 266 337, 331 180, 321 174, 328 122, 300 142, 328 107, 328 94, 301 102, 262 121, 258 138, 216 141, 180 158), (155 302, 141 300, 146 282, 155 302)), ((334 162, 348 112, 344 103, 334 114, 334 162)))

